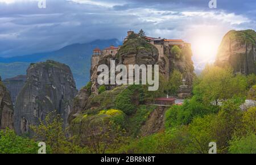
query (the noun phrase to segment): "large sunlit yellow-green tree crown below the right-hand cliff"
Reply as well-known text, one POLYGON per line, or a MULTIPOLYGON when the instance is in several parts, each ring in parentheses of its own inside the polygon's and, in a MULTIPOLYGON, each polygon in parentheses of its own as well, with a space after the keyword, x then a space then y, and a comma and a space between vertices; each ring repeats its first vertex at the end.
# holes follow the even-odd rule
POLYGON ((200 75, 200 83, 193 89, 193 93, 204 100, 205 103, 231 99, 234 96, 245 97, 246 77, 238 74, 233 75, 230 67, 206 66, 200 75))

